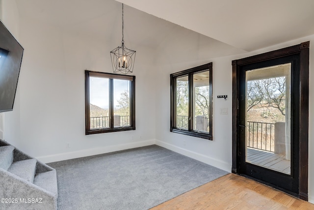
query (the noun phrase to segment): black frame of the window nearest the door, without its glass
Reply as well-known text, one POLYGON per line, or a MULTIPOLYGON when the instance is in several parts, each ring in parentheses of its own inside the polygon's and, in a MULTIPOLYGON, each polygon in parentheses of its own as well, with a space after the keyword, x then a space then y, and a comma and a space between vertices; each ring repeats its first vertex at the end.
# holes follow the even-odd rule
POLYGON ((170 74, 170 132, 212 140, 212 62, 170 74), (193 130, 193 75, 209 71, 209 132, 193 130), (188 129, 176 127, 176 79, 188 76, 188 129))

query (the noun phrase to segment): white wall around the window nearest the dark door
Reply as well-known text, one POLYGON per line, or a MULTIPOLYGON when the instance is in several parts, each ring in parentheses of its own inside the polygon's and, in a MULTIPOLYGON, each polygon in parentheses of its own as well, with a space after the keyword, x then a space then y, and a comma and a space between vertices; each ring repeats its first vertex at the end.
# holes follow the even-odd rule
MULTIPOLYGON (((184 58, 183 58, 184 59, 184 58)), ((188 58, 185 58, 188 60, 188 58)), ((195 60, 161 66, 156 104, 157 145, 175 150, 226 171, 231 164, 231 62, 195 60), (170 74, 213 61, 213 141, 170 132, 170 74), (216 70, 219 69, 219 70, 216 70), (218 82, 219 81, 219 82, 218 82), (216 95, 228 95, 227 101, 216 95), (219 115, 219 108, 228 108, 228 115, 219 115)))

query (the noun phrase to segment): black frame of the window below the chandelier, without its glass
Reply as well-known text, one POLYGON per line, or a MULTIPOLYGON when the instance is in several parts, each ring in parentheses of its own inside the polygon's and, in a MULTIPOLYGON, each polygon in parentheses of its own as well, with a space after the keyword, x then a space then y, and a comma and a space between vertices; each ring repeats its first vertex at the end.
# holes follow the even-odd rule
POLYGON ((108 133, 117 131, 135 130, 135 76, 121 75, 97 71, 85 70, 85 135, 108 133), (90 77, 101 77, 109 79, 109 128, 90 128, 90 77), (130 126, 114 127, 113 123, 113 79, 129 80, 130 82, 130 126))

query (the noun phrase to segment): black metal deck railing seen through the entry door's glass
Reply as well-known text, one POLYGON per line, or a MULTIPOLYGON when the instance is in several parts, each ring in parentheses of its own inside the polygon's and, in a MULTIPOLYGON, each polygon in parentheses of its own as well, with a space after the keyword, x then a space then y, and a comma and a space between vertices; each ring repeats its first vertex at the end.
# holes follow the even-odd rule
POLYGON ((247 147, 274 152, 275 124, 247 122, 247 147))

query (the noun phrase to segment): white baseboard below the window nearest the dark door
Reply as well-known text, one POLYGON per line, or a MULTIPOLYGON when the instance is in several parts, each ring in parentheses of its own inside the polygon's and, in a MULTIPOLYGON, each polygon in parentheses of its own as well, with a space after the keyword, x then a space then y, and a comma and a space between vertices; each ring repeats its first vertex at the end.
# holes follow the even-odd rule
POLYGON ((201 161, 203 163, 209 164, 209 165, 214 166, 216 168, 222 169, 224 171, 231 172, 231 165, 227 162, 223 162, 223 161, 214 159, 212 157, 209 157, 209 156, 206 156, 204 154, 200 154, 200 153, 197 153, 194 151, 186 150, 186 149, 177 147, 175 145, 171 145, 169 143, 162 142, 160 140, 156 140, 156 145, 163 147, 163 148, 166 148, 168 150, 178 152, 180 154, 183 154, 183 155, 188 156, 190 158, 196 159, 196 160, 201 161))

